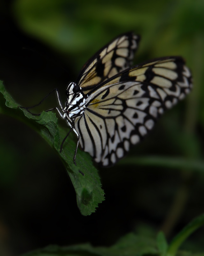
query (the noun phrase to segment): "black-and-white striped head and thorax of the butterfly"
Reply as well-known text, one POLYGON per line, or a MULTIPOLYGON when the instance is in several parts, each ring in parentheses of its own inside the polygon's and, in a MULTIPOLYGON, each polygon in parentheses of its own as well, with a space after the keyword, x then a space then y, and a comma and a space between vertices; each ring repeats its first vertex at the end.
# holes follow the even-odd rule
POLYGON ((67 99, 65 102, 64 112, 71 120, 81 116, 86 108, 86 97, 79 85, 70 83, 67 87, 67 99))

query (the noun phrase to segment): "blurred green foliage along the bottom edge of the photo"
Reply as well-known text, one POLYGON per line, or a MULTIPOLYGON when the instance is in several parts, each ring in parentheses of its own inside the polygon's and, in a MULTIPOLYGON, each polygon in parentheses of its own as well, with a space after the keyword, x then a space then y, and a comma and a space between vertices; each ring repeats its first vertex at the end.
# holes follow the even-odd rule
POLYGON ((197 228, 204 224, 204 214, 191 221, 179 234, 173 239, 168 246, 164 234, 159 232, 157 235, 157 242, 154 239, 149 239, 144 236, 136 236, 133 233, 129 233, 126 236, 120 238, 120 240, 113 246, 107 247, 93 247, 90 244, 77 244, 67 247, 49 246, 34 252, 26 253, 24 256, 72 256, 72 255, 100 255, 100 256, 114 256, 114 255, 126 255, 126 256, 202 256, 201 253, 188 253, 178 252, 180 244, 197 228))

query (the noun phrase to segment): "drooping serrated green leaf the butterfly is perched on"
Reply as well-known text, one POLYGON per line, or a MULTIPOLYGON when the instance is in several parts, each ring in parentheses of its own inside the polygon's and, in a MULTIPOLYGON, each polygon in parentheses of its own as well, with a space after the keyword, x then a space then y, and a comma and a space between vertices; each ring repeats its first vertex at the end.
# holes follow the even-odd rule
POLYGON ((65 141, 62 153, 60 145, 67 131, 58 126, 58 119, 53 112, 42 112, 40 116, 33 116, 27 110, 19 108, 18 104, 6 92, 0 82, 0 113, 17 118, 32 127, 44 138, 62 159, 77 195, 77 205, 83 215, 95 212, 98 204, 104 200, 97 169, 93 166, 91 156, 78 148, 76 163, 73 163, 76 138, 72 135, 65 141), (5 101, 5 100, 6 101, 5 101), (5 102, 5 104, 4 104, 5 102), (5 107, 6 106, 6 107, 5 107))

